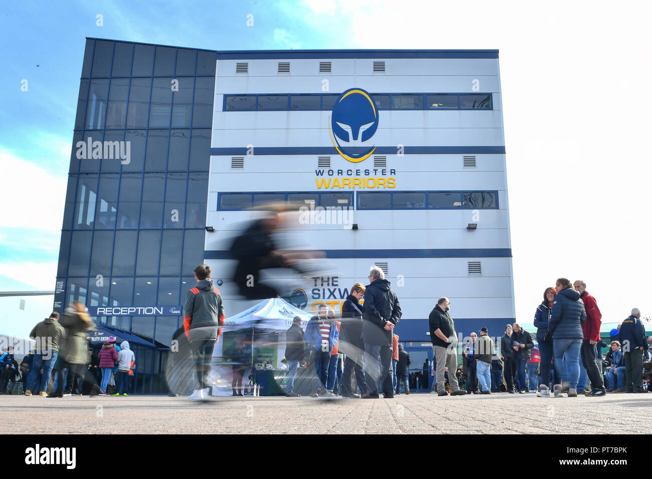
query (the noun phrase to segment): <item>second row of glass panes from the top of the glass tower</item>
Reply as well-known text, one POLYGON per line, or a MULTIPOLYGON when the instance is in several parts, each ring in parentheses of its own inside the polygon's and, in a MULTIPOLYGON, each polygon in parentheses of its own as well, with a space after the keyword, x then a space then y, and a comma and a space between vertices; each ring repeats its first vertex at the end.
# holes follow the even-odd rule
POLYGON ((75 129, 210 127, 214 87, 212 76, 82 80, 75 129))

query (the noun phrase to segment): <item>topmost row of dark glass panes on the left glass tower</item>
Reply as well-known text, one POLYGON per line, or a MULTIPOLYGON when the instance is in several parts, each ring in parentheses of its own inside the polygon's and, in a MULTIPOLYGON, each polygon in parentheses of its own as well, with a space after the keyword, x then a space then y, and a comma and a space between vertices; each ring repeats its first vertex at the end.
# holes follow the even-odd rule
POLYGON ((215 76, 215 51, 111 40, 86 40, 82 78, 108 76, 215 76))

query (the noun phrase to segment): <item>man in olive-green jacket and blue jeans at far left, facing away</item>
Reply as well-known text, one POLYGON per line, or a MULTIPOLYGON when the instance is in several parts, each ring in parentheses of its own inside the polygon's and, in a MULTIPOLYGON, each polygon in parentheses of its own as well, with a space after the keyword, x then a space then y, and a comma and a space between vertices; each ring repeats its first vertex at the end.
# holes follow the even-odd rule
POLYGON ((59 340, 63 337, 64 329, 59 325, 59 313, 52 312, 50 317, 38 323, 29 333, 29 337, 37 341, 37 349, 33 358, 31 371, 27 377, 27 390, 25 396, 31 396, 32 391, 37 392, 36 382, 38 373, 43 370, 40 386, 38 389, 39 396, 48 396, 46 390, 48 381, 50 381, 50 372, 52 366, 59 356, 59 340))

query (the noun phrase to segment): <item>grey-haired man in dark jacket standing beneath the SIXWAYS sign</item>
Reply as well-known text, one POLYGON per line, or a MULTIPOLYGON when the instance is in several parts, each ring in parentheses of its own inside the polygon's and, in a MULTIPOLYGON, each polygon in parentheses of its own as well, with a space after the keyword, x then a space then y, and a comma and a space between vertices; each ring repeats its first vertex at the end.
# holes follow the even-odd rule
POLYGON ((364 289, 363 336, 365 358, 370 364, 364 365, 364 373, 369 392, 364 399, 378 398, 383 390, 385 399, 394 397, 392 377, 393 329, 400 321, 402 312, 396 293, 385 280, 385 273, 374 265, 369 272, 369 285, 364 289), (378 362, 378 356, 380 361, 378 362), (378 371, 380 364, 380 371, 378 371), (378 375, 378 381, 374 376, 378 375))

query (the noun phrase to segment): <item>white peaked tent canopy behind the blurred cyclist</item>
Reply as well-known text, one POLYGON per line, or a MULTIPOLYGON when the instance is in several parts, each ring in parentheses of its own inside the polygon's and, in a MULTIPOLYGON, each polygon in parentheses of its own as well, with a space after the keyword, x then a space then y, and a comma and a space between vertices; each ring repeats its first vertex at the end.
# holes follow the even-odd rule
POLYGON ((248 310, 224 320, 224 331, 254 328, 261 331, 281 332, 292 325, 295 316, 301 317, 301 327, 306 328, 312 314, 299 310, 282 298, 265 299, 248 310))

